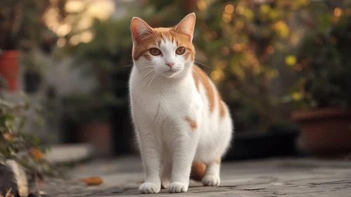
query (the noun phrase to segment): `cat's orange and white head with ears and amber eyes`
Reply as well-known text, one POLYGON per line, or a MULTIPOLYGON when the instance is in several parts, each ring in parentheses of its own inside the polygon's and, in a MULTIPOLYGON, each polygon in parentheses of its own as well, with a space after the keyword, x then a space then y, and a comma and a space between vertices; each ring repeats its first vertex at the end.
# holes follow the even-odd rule
POLYGON ((194 26, 194 13, 186 15, 178 25, 170 28, 152 28, 134 17, 131 24, 134 65, 164 77, 189 71, 195 58, 191 43, 194 26))

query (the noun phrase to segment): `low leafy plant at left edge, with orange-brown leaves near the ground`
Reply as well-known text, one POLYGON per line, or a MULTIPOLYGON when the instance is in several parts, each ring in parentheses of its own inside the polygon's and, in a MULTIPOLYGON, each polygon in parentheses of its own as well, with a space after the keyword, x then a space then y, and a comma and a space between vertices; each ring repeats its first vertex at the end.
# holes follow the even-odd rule
MULTIPOLYGON (((49 146, 41 144, 39 137, 25 132, 29 117, 39 115, 39 122, 46 114, 40 107, 23 103, 9 103, 0 99, 0 164, 13 159, 23 165, 30 174, 55 174, 51 164, 44 158, 49 146)), ((39 126, 38 125, 38 126, 39 126)))

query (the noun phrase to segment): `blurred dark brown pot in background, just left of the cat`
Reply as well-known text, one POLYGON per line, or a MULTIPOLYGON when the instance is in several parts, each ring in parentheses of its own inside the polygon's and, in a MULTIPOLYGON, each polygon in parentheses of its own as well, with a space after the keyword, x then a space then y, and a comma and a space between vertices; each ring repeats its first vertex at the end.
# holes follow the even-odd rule
POLYGON ((112 155, 113 137, 110 122, 90 122, 81 125, 77 134, 79 142, 89 142, 94 146, 94 155, 112 155))

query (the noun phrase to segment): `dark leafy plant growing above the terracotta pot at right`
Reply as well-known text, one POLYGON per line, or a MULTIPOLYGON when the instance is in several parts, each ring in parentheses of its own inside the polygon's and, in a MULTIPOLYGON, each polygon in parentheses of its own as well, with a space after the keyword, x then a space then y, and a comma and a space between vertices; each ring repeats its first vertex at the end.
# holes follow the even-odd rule
POLYGON ((351 107, 351 10, 338 12, 346 15, 338 15, 331 30, 313 32, 300 46, 300 78, 288 96, 295 108, 351 107))

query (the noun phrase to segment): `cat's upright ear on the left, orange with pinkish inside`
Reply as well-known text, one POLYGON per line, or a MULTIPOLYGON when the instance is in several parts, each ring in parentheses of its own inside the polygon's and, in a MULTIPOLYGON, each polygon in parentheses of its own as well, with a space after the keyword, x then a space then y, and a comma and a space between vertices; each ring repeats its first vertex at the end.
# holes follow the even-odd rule
POLYGON ((148 26, 148 23, 137 17, 133 17, 130 30, 132 31, 133 42, 138 42, 142 37, 153 34, 153 29, 148 26))

